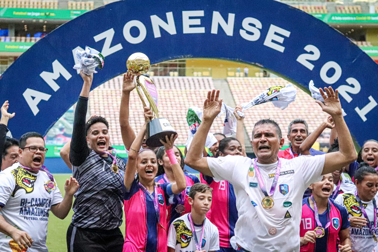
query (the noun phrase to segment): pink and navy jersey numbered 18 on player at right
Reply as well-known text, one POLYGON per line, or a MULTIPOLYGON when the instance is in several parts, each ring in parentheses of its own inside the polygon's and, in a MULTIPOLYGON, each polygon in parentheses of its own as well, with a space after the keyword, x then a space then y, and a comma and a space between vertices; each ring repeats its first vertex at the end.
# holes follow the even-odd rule
MULTIPOLYGON (((315 212, 310 207, 309 198, 304 198, 302 201, 302 218, 299 235, 305 236, 305 233, 314 230, 317 225, 315 221, 315 212)), ((301 247, 301 252, 337 252, 338 251, 338 236, 340 230, 347 229, 349 224, 349 217, 347 210, 332 199, 331 213, 328 219, 328 209, 324 213, 319 213, 319 220, 322 227, 325 227, 328 221, 331 221, 330 226, 325 229, 325 235, 321 238, 316 238, 315 243, 307 243, 301 247)))

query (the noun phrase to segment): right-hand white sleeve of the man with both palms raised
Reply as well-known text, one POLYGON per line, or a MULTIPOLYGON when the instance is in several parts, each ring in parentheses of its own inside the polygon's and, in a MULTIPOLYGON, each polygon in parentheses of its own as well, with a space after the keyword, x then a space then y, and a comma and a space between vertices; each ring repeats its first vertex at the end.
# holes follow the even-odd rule
POLYGON ((307 188, 310 184, 322 180, 322 171, 324 167, 325 155, 317 156, 300 156, 291 159, 297 162, 297 174, 303 178, 303 184, 307 188))

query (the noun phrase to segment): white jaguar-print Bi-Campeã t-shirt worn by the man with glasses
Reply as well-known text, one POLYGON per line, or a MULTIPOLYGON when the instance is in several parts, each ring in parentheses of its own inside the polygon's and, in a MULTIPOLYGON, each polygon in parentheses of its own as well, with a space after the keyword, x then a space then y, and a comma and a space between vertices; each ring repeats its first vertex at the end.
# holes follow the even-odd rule
MULTIPOLYGON (((45 252, 47 222, 52 205, 63 198, 44 171, 30 173, 15 163, 0 173, 0 206, 4 219, 33 239, 28 252, 45 252)), ((13 239, 0 232, 0 251, 15 251, 13 239)), ((18 251, 18 250, 17 250, 18 251)))

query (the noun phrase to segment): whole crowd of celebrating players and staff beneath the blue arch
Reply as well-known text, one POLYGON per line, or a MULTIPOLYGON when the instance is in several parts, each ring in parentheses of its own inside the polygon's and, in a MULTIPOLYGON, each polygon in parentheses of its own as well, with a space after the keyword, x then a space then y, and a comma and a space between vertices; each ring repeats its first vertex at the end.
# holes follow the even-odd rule
POLYGON ((95 115, 85 121, 93 74, 81 76, 72 140, 60 153, 73 174, 64 197, 43 166, 43 136, 6 138, 15 113, 8 112, 8 101, 1 107, 1 251, 47 251, 50 210, 63 219, 71 207, 70 252, 377 250, 378 142, 367 141, 357 156, 337 90, 319 90, 324 103, 318 104, 329 116, 311 134, 304 120, 290 123, 288 149, 279 151, 284 139, 275 121, 257 121, 251 136, 256 159, 245 153, 240 106, 235 137, 214 134, 212 157, 204 151, 222 107, 219 90, 209 91, 184 160, 174 145, 177 135, 161 140, 158 149, 146 146, 146 124, 153 118, 148 107, 135 135, 129 124, 134 77, 126 73, 119 111, 129 151, 125 164, 111 147, 106 119, 95 115), (327 154, 311 148, 325 128, 331 129, 327 154), (200 172, 200 180, 184 163, 200 172), (122 208, 125 238, 119 229, 122 208))

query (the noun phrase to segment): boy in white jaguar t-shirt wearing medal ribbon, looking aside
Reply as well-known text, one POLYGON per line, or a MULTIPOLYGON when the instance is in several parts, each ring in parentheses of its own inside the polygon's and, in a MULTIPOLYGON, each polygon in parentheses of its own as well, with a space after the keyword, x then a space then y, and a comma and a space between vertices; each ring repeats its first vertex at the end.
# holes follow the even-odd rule
POLYGON ((168 252, 219 250, 218 229, 206 218, 211 208, 212 188, 203 183, 192 185, 188 201, 191 213, 175 219, 169 227, 168 252))

